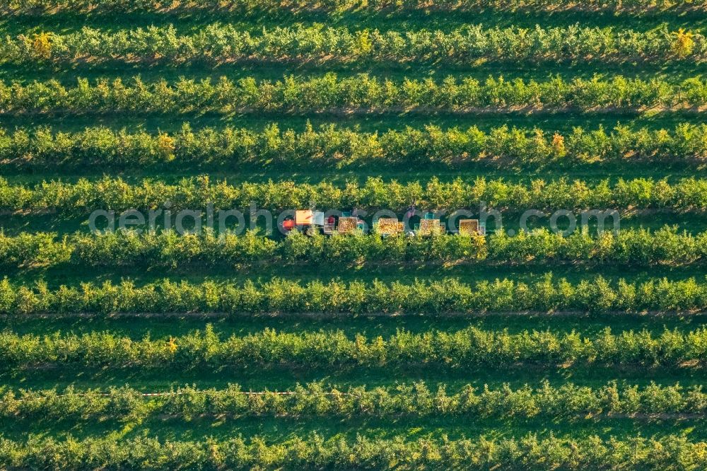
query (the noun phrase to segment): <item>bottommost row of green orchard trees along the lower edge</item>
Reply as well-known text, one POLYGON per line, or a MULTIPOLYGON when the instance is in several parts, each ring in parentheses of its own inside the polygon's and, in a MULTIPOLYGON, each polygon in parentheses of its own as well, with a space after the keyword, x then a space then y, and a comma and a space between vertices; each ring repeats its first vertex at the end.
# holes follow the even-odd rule
POLYGON ((439 470, 439 469, 563 469, 563 470, 700 470, 707 466, 707 443, 683 436, 630 438, 460 439, 435 441, 294 436, 284 443, 249 441, 164 441, 156 438, 86 438, 63 441, 30 436, 27 441, 0 439, 0 465, 33 469, 121 470, 439 470))

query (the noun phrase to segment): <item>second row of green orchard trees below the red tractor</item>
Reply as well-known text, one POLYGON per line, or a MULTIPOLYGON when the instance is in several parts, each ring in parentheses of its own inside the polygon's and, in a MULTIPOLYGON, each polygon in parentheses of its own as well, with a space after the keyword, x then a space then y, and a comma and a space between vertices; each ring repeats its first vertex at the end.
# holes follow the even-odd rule
POLYGON ((274 279, 266 283, 189 284, 160 281, 135 286, 132 281, 100 285, 22 286, 0 281, 0 313, 477 313, 477 312, 689 312, 707 308, 707 280, 641 283, 602 277, 570 284, 548 274, 526 284, 503 279, 461 284, 440 279, 413 284, 373 281, 324 284, 274 279))

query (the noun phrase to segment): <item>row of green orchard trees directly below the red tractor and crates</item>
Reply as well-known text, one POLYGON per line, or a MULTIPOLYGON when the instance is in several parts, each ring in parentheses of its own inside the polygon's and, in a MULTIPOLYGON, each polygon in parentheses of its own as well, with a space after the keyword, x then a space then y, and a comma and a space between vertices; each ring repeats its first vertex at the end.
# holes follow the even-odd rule
POLYGON ((707 260, 707 233, 693 236, 665 227, 655 232, 629 229, 618 234, 570 236, 547 229, 493 236, 433 235, 381 238, 373 235, 307 238, 291 233, 274 240, 247 231, 244 236, 212 231, 178 236, 173 231, 76 233, 55 240, 50 233, 22 233, 8 237, 0 232, 0 266, 180 267, 218 264, 329 263, 375 265, 401 262, 595 264, 701 264, 707 260))

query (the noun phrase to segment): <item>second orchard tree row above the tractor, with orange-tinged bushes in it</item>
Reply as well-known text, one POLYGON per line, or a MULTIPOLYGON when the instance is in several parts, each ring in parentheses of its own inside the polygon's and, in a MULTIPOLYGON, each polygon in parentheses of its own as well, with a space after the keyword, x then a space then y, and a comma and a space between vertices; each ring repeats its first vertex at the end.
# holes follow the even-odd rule
POLYGON ((707 125, 679 124, 672 131, 575 127, 570 134, 541 129, 481 131, 478 127, 442 129, 433 124, 385 132, 322 125, 304 132, 269 124, 248 128, 192 129, 151 134, 87 127, 62 132, 52 127, 0 129, 0 163, 18 168, 101 168, 182 163, 218 166, 336 165, 480 162, 503 168, 517 165, 581 163, 699 164, 707 158, 707 125))

